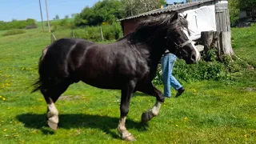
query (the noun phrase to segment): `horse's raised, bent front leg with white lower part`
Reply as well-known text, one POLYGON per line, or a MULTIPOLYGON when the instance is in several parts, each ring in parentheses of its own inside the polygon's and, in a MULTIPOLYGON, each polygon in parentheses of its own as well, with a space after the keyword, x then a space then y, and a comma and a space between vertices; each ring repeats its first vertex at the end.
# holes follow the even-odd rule
POLYGON ((141 91, 145 94, 154 95, 154 97, 156 97, 156 102, 154 106, 151 109, 146 110, 146 112, 142 114, 142 123, 147 123, 150 121, 150 119, 154 118, 159 114, 162 102, 165 101, 165 98, 163 97, 162 92, 158 90, 152 84, 152 82, 144 86, 144 88, 141 91))

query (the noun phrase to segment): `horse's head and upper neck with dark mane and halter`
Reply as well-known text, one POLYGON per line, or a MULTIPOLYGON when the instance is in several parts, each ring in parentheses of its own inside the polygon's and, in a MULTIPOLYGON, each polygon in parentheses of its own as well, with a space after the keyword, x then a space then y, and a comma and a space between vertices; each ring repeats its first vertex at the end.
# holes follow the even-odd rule
POLYGON ((183 18, 177 11, 141 19, 131 35, 130 39, 134 43, 148 43, 161 54, 164 49, 168 49, 178 58, 183 58, 186 63, 195 63, 200 59, 200 53, 190 40, 186 17, 183 18))

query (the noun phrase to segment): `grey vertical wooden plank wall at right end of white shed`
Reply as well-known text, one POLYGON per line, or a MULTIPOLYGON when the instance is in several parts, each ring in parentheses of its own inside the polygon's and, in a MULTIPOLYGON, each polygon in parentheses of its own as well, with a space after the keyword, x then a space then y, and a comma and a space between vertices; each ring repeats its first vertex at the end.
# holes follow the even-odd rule
POLYGON ((217 31, 230 31, 230 14, 227 3, 215 4, 217 31))

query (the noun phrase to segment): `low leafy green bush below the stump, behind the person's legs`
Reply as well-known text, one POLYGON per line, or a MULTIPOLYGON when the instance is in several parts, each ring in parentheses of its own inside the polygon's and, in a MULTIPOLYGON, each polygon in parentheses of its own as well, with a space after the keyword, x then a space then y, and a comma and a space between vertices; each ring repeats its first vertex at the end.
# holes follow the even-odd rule
MULTIPOLYGON (((184 60, 178 59, 174 65, 173 74, 178 80, 185 82, 196 82, 202 80, 234 80, 242 69, 246 69, 246 64, 239 61, 232 62, 230 57, 226 56, 224 62, 206 62, 200 61, 197 64, 187 65, 184 60)), ((158 66, 157 75, 154 78, 155 84, 162 84, 162 68, 158 66)))

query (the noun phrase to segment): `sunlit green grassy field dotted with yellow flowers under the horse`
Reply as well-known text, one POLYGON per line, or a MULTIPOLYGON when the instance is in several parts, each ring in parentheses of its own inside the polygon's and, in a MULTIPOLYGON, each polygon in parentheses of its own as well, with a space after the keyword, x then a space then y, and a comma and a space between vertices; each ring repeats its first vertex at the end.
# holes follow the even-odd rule
MULTIPOLYGON (((69 33, 63 30, 62 33, 69 33)), ((235 53, 256 66, 256 27, 232 29, 235 53)), ((50 34, 26 30, 2 37, 0 31, 0 143, 126 143, 118 138, 119 90, 82 82, 70 86, 56 106, 57 131, 46 126, 46 102, 30 94, 38 78, 38 58, 50 34)), ((154 98, 134 94, 126 121, 134 143, 255 143, 256 71, 244 70, 234 82, 182 82, 186 92, 168 98, 149 126, 140 125, 154 98)), ((158 86, 162 89, 162 86, 158 86)), ((174 90, 172 90, 174 93, 174 90)))

